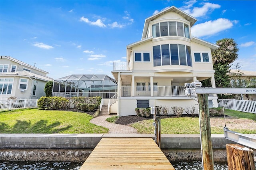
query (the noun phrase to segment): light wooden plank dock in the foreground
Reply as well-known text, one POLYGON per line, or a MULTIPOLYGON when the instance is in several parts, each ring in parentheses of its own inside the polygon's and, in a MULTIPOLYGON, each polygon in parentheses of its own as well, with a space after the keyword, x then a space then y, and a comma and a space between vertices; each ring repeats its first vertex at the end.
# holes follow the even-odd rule
POLYGON ((152 138, 102 138, 80 170, 175 170, 152 138))

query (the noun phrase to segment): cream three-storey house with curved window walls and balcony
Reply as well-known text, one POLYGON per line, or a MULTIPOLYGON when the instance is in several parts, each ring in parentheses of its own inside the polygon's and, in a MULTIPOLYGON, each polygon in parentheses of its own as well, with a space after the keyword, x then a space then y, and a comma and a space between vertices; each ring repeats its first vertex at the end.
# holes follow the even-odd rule
MULTIPOLYGON (((174 6, 146 18, 142 39, 126 47, 126 62, 114 62, 118 115, 135 115, 136 107, 168 106, 170 113, 174 106, 197 108, 184 83, 210 78, 215 87, 211 52, 219 46, 192 37, 195 22, 174 6)), ((218 107, 216 95, 208 100, 218 107)))

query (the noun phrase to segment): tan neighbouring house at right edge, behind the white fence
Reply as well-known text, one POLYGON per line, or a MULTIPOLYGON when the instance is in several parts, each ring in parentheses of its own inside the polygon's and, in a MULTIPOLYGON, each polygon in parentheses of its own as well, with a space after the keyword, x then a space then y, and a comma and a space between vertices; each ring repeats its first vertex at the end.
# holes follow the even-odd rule
MULTIPOLYGON (((229 73, 232 87, 256 87, 256 71, 231 69, 229 73)), ((243 95, 243 100, 256 100, 256 95, 243 95)))

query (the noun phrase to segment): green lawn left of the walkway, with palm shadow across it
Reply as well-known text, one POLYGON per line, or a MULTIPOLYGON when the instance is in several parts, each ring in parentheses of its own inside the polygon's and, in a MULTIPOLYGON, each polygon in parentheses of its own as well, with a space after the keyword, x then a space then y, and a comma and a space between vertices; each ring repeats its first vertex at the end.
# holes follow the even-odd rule
POLYGON ((22 109, 0 113, 0 133, 108 133, 86 113, 22 109))

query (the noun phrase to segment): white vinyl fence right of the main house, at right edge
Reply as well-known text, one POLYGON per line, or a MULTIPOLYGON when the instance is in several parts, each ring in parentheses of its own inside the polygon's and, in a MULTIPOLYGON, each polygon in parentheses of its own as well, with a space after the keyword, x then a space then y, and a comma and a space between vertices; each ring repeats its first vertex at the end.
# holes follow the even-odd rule
POLYGON ((236 99, 218 99, 218 106, 225 109, 242 111, 256 114, 256 101, 236 100, 236 99))

